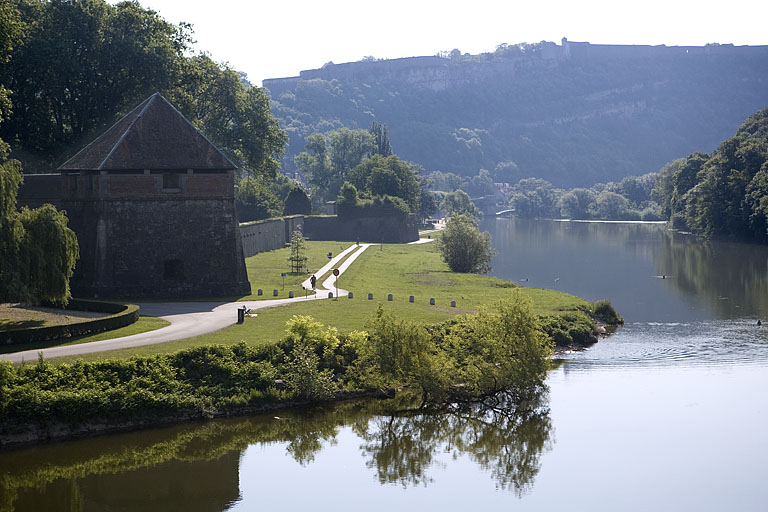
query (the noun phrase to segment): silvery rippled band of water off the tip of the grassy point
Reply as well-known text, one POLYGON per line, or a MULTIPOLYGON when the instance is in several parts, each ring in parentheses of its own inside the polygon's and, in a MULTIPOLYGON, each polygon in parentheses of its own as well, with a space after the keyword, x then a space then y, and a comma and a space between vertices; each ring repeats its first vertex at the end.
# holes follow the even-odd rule
POLYGON ((631 323, 583 352, 564 354, 580 367, 768 364, 768 328, 755 320, 631 323))

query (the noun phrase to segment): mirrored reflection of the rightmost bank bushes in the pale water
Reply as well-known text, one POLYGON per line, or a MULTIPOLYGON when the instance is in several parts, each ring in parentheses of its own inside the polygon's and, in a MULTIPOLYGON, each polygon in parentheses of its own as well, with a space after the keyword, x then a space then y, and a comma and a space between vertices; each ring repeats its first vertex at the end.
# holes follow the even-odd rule
POLYGON ((466 455, 490 472, 498 488, 522 496, 533 486, 540 456, 551 449, 545 388, 513 405, 508 395, 441 413, 411 411, 376 416, 358 425, 361 450, 381 483, 427 485, 436 456, 466 455))

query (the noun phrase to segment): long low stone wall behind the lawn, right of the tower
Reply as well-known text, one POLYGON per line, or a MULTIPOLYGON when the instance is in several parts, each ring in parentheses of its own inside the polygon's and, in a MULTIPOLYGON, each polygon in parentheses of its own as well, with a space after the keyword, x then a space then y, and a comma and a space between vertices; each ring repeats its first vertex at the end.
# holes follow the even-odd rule
POLYGON ((403 244, 419 239, 415 215, 354 219, 292 215, 240 224, 243 256, 281 249, 296 230, 310 240, 403 244))

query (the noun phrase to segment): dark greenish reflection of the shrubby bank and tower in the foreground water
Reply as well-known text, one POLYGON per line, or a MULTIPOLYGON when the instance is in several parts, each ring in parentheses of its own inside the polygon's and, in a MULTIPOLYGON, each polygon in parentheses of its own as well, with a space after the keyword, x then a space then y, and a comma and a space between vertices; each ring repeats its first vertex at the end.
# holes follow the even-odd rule
POLYGON ((285 444, 290 457, 311 466, 342 429, 360 438, 360 453, 381 482, 426 485, 429 469, 450 451, 519 496, 551 444, 546 390, 517 410, 391 412, 403 405, 350 402, 3 453, 0 510, 226 510, 241 499, 239 468, 248 446, 285 444))

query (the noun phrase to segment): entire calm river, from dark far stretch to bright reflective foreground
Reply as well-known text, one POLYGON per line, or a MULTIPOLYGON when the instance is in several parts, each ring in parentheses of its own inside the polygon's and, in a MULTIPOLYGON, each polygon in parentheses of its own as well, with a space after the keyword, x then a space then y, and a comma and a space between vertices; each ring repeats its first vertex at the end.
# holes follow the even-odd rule
POLYGON ((766 510, 768 247, 657 224, 488 219, 494 275, 626 325, 524 411, 379 404, 0 454, 0 510, 766 510))

